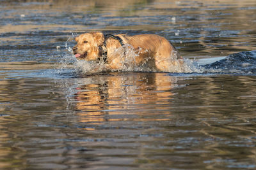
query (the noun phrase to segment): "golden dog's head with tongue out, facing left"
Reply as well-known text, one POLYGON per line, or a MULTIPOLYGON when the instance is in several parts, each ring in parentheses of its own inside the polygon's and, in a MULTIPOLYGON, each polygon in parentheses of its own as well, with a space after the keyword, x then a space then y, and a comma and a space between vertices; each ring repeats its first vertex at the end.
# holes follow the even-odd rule
POLYGON ((77 59, 87 61, 97 60, 99 57, 99 46, 104 43, 102 32, 89 32, 76 37, 77 45, 73 47, 73 53, 77 59))

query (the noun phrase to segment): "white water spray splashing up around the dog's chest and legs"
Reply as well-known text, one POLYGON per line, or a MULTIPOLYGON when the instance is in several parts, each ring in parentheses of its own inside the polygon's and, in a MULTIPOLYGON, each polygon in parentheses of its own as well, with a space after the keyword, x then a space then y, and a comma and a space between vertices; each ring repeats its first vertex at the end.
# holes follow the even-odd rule
MULTIPOLYGON (((68 46, 68 41, 74 39, 76 36, 77 34, 71 32, 71 36, 68 37, 67 41, 65 42, 65 50, 68 53, 63 55, 57 66, 59 73, 63 73, 63 70, 68 68, 72 68, 76 72, 81 72, 84 74, 100 73, 104 71, 157 72, 156 68, 148 66, 147 60, 145 63, 141 64, 141 66, 136 66, 135 58, 138 56, 138 53, 136 53, 136 50, 134 50, 134 48, 129 44, 116 48, 115 50, 116 56, 122 56, 121 67, 117 70, 108 70, 103 60, 100 60, 99 62, 77 60, 72 54, 72 47, 68 46)), ((182 62, 180 62, 180 59, 177 57, 177 52, 173 52, 170 57, 164 60, 166 60, 166 63, 170 63, 170 61, 171 63, 176 63, 173 66, 167 66, 165 71, 169 73, 204 73, 203 67, 199 66, 195 60, 184 59, 182 62)))

